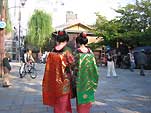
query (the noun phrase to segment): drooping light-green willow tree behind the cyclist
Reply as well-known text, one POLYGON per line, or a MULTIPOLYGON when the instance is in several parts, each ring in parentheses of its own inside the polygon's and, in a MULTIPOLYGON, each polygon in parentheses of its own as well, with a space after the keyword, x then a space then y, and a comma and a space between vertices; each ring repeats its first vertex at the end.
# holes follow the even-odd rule
POLYGON ((53 32, 52 18, 42 10, 35 10, 28 23, 26 45, 43 48, 53 32))

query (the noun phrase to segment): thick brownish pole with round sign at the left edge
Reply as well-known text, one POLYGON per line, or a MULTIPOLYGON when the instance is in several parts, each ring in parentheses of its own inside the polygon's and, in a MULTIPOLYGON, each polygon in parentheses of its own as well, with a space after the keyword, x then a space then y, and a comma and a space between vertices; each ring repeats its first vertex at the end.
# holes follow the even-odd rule
POLYGON ((5 23, 5 17, 6 17, 6 2, 5 0, 1 0, 1 12, 0 12, 0 77, 2 77, 3 74, 3 58, 4 58, 4 34, 5 30, 3 28, 3 25, 5 23))

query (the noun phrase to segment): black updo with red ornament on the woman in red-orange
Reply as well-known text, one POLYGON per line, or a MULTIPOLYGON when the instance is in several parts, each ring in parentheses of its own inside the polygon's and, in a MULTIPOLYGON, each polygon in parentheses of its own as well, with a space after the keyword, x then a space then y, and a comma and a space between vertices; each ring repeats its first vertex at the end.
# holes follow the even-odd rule
POLYGON ((69 36, 65 31, 58 31, 58 35, 56 37, 57 42, 69 41, 69 36))

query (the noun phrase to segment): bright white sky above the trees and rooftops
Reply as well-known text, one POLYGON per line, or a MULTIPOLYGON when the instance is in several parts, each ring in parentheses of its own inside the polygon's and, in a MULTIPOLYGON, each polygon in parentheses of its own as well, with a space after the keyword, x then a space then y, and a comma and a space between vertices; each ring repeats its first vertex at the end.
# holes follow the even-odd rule
MULTIPOLYGON (((9 0, 10 15, 14 26, 18 24, 18 9, 20 0, 9 0)), ((85 24, 94 24, 96 20, 95 12, 113 19, 117 14, 113 9, 134 3, 135 0, 27 0, 25 6, 21 8, 21 26, 27 28, 27 22, 35 9, 41 9, 52 15, 53 26, 65 24, 66 11, 73 11, 78 19, 85 24)))

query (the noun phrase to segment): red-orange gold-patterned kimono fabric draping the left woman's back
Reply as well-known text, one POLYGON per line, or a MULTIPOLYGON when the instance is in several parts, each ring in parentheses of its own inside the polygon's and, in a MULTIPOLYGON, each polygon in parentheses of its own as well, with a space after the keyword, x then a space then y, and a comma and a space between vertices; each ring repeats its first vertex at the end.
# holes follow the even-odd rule
MULTIPOLYGON (((68 54, 67 50, 63 52, 50 52, 47 57, 42 82, 43 104, 45 105, 54 107, 58 103, 58 98, 71 93, 70 74, 66 71, 69 66, 68 57, 70 58, 68 54)), ((67 100, 67 102, 69 101, 67 100)), ((71 111, 70 102, 68 103, 67 111, 71 111)))

